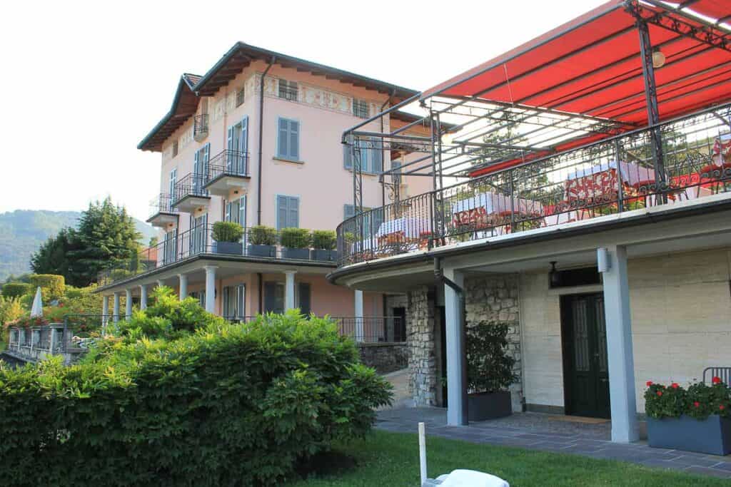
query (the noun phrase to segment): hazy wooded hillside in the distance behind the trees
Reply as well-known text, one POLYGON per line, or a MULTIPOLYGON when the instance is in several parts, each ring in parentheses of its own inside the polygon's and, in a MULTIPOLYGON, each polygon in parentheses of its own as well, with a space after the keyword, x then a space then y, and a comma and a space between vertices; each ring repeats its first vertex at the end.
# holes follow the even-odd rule
MULTIPOLYGON (((15 210, 0 213, 0 282, 8 275, 29 272, 31 254, 48 237, 64 226, 76 226, 81 212, 54 212, 48 210, 15 210)), ((137 231, 146 244, 157 231, 147 223, 135 219, 137 231)))

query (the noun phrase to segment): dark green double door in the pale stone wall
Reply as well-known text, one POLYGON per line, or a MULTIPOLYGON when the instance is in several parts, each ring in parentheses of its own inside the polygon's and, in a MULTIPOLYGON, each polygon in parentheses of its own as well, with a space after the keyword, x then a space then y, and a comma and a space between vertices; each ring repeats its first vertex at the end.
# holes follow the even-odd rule
POLYGON ((561 329, 566 413, 609 418, 604 296, 562 296, 561 329))

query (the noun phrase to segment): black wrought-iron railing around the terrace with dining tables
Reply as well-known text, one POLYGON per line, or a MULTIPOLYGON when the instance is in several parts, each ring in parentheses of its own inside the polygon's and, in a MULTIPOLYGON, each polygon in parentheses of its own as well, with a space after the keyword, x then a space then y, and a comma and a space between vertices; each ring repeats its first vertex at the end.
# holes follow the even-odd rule
POLYGON ((338 226, 338 264, 731 191, 730 117, 725 104, 362 212, 338 226))

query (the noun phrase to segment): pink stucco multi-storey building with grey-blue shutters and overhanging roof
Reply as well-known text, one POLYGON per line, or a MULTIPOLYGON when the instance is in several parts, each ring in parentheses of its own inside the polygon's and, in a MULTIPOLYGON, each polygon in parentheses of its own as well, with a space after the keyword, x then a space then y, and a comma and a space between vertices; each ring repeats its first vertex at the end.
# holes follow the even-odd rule
MULTIPOLYGON (((279 232, 332 231, 352 216, 356 156, 341 134, 415 93, 240 42, 203 76, 183 74, 170 112, 138 145, 161 155, 159 197, 148 220, 160 231, 159 245, 134 268, 102 276, 105 304, 114 307, 110 314, 125 314, 118 309, 121 294, 144 307, 151 287, 168 285, 233 319, 292 307, 344 317, 403 315, 401 295, 327 282, 338 249, 318 253, 308 245, 292 251, 279 232), (233 245, 216 242, 212 226, 218 221, 240 223, 243 238, 233 245), (252 230, 257 226, 274 229, 274 240, 264 242, 273 245, 261 245, 262 229, 252 230)), ((409 117, 395 114, 394 127, 409 117)), ((376 133, 389 124, 377 118, 366 129, 376 133)), ((409 131, 428 134, 421 126, 409 131)), ((379 183, 379 172, 407 156, 382 150, 376 139, 366 145, 357 155, 364 169, 363 205, 380 207, 393 192, 379 183)), ((427 191, 427 179, 402 177, 401 195, 427 191)), ((357 333, 392 340, 387 335, 399 331, 387 331, 386 321, 366 319, 366 329, 357 333)))

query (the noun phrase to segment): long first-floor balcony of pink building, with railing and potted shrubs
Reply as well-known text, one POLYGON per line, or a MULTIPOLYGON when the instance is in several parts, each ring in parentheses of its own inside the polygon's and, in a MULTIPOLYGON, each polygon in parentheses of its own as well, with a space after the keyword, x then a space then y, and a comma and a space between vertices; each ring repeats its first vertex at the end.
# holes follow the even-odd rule
POLYGON ((243 237, 238 242, 216 242, 212 225, 194 226, 176 237, 145 248, 129 261, 99 272, 97 283, 110 285, 206 255, 248 258, 259 262, 317 263, 333 267, 338 261, 336 250, 286 248, 281 245, 280 232, 265 227, 243 229, 243 237))

